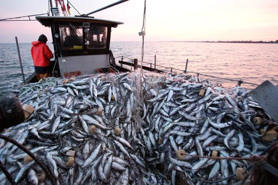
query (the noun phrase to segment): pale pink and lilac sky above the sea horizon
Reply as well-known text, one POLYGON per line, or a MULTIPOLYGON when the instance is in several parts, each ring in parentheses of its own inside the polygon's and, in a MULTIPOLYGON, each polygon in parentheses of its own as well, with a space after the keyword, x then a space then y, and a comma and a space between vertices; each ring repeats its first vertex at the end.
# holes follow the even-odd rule
MULTIPOLYGON (((47 13, 49 0, 5 0, 0 19, 47 13)), ((55 6, 55 0, 52 0, 55 6)), ((64 0, 67 4, 67 0, 64 0)), ((118 0, 70 0, 81 14, 118 0)), ((71 6, 71 5, 70 5, 71 6)), ((124 22, 111 41, 141 41, 144 0, 129 0, 91 16, 124 22)), ((71 15, 79 15, 71 6, 71 15)), ((146 0, 145 41, 276 41, 278 0, 146 0)), ((38 21, 0 21, 0 43, 51 41, 38 21)))

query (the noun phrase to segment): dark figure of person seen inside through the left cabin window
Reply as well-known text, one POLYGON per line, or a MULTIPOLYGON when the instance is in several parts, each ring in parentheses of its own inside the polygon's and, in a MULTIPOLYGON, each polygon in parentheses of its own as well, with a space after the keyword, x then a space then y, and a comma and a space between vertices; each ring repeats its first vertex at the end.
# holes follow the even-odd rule
POLYGON ((70 28, 70 35, 65 37, 64 48, 65 49, 81 49, 82 39, 76 33, 76 29, 70 28), (78 47, 77 47, 78 46, 78 47))

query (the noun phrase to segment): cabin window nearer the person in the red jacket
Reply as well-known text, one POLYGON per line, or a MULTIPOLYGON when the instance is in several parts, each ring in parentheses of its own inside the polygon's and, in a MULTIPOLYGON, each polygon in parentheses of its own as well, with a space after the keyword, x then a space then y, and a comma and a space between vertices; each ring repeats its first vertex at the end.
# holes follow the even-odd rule
POLYGON ((63 50, 83 49, 82 26, 72 24, 60 25, 61 47, 63 50))

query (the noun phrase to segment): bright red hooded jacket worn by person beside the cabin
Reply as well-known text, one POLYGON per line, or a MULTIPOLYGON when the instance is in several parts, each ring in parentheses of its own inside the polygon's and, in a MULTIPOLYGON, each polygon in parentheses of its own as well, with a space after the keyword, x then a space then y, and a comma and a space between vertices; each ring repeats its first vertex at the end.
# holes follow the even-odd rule
POLYGON ((53 54, 49 47, 41 41, 32 42, 31 54, 35 66, 49 66, 53 54))

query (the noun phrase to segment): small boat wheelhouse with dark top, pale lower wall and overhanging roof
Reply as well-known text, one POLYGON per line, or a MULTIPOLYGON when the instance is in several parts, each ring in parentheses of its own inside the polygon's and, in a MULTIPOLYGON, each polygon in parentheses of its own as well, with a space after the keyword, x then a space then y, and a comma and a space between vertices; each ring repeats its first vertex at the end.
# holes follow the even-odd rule
POLYGON ((87 16, 36 16, 36 19, 51 28, 57 76, 117 71, 110 51, 111 28, 123 22, 87 16))

